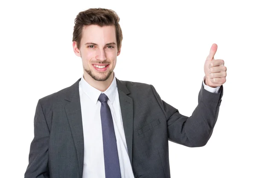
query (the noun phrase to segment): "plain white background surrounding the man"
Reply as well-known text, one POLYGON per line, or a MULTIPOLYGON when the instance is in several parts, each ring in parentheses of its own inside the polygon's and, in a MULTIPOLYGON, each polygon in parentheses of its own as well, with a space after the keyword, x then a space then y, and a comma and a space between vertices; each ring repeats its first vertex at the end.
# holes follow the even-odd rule
POLYGON ((256 6, 252 1, 12 0, 0 2, 0 169, 21 178, 28 165, 38 99, 83 73, 73 53, 74 19, 102 7, 120 17, 116 77, 154 85, 163 100, 190 116, 213 43, 227 82, 206 146, 169 142, 172 178, 255 178, 256 6))

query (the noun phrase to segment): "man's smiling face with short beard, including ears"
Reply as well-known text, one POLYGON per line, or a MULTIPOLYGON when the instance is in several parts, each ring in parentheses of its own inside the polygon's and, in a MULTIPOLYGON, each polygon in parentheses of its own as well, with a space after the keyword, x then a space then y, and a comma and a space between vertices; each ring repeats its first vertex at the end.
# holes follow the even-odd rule
POLYGON ((107 80, 116 66, 117 51, 115 26, 85 26, 82 31, 80 49, 73 42, 73 49, 80 56, 84 74, 94 80, 107 80))

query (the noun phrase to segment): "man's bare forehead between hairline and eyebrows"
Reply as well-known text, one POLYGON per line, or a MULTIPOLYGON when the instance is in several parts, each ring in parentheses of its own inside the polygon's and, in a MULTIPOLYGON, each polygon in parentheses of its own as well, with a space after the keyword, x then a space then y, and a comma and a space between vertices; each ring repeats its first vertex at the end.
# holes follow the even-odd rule
POLYGON ((83 43, 93 42, 93 43, 116 43, 116 30, 115 26, 98 26, 89 25, 84 26, 82 31, 83 43))

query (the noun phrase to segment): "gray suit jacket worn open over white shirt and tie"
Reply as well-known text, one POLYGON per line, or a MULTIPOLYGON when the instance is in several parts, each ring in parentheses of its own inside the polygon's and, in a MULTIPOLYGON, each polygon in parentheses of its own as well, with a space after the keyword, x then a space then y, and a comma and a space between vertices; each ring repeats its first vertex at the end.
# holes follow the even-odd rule
MULTIPOLYGON (((79 80, 38 100, 25 178, 81 178, 84 138, 79 80)), ((223 95, 204 89, 192 116, 161 100, 154 86, 116 79, 125 139, 135 178, 170 178, 168 141, 204 146, 223 95)), ((130 164, 127 163, 127 164, 130 164)))

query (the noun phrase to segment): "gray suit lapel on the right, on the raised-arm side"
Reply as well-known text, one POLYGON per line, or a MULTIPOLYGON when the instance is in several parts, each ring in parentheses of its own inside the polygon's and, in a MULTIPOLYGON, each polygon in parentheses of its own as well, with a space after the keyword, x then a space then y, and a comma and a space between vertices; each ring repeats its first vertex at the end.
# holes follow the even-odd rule
POLYGON ((132 142, 133 142, 133 100, 127 95, 130 93, 122 81, 116 78, 116 84, 119 94, 119 102, 122 113, 122 121, 125 130, 125 140, 128 149, 128 155, 132 167, 132 142))

